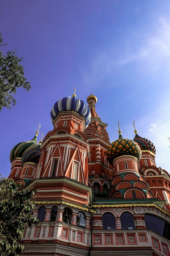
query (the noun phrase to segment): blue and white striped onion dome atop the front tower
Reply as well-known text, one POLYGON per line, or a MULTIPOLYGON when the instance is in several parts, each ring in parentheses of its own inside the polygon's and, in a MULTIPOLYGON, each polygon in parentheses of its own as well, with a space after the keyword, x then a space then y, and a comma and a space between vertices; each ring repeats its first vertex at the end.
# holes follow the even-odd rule
POLYGON ((51 120, 56 117, 60 111, 75 111, 80 115, 85 117, 86 127, 91 121, 91 111, 90 108, 84 103, 84 101, 77 99, 76 97, 64 97, 55 102, 51 110, 51 120))

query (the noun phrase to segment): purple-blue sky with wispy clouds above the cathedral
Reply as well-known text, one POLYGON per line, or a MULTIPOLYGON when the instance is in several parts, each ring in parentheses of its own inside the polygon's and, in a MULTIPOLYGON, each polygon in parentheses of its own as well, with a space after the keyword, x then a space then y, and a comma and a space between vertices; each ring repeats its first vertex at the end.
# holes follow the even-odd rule
POLYGON ((13 146, 28 141, 41 123, 53 129, 53 104, 97 97, 110 141, 132 139, 132 126, 155 145, 157 166, 170 173, 170 1, 6 0, 0 32, 25 58, 29 92, 18 89, 12 110, 0 112, 0 173, 8 176, 13 146))

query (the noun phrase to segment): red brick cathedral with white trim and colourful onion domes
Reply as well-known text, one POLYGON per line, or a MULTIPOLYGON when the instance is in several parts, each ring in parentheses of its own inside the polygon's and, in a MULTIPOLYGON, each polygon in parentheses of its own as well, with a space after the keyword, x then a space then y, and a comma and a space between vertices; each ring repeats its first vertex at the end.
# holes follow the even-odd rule
POLYGON ((73 97, 51 110, 53 130, 11 150, 11 173, 37 191, 24 256, 170 255, 170 175, 155 146, 135 130, 110 143, 97 98, 73 97))

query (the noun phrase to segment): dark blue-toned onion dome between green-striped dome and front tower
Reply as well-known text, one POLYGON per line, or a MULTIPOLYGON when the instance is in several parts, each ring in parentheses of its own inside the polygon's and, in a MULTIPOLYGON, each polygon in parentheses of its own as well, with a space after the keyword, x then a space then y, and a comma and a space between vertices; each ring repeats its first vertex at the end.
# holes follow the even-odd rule
POLYGON ((28 162, 38 164, 40 156, 41 156, 41 150, 40 150, 40 144, 39 144, 35 149, 26 151, 26 153, 22 156, 22 164, 25 164, 28 162))

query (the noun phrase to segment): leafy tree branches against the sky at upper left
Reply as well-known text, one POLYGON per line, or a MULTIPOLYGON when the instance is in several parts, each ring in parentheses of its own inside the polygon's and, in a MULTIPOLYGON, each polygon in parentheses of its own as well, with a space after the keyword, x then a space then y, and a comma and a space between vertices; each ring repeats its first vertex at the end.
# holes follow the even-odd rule
POLYGON ((24 88, 27 91, 31 88, 30 83, 24 77, 24 67, 20 64, 23 58, 20 58, 15 51, 2 52, 3 44, 0 33, 0 111, 7 107, 11 109, 16 100, 13 96, 17 88, 24 88))

